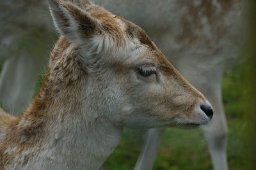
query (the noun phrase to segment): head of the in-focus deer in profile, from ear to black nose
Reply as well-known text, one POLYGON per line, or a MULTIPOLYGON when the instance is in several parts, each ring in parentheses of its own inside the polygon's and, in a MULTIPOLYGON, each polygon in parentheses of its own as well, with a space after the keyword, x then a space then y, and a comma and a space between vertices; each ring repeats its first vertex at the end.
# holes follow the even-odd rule
POLYGON ((205 97, 138 25, 88 0, 49 0, 49 6, 62 35, 49 69, 56 96, 70 93, 84 113, 121 127, 186 128, 211 120, 205 97))

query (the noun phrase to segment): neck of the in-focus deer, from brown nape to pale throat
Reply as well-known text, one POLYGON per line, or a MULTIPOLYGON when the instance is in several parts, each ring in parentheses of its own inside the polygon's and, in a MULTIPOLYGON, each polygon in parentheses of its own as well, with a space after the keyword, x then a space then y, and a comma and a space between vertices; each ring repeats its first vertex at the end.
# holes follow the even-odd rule
POLYGON ((98 169, 122 138, 79 59, 63 56, 70 50, 74 46, 61 38, 40 93, 15 123, 19 138, 10 143, 22 145, 17 153, 33 155, 24 162, 17 156, 17 169, 98 169))

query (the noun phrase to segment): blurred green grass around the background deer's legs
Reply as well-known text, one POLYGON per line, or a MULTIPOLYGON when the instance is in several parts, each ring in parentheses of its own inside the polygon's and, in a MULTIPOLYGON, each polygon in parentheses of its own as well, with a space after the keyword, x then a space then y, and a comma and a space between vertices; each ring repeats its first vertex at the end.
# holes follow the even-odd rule
MULTIPOLYGON (((246 121, 243 118, 244 64, 235 67, 223 78, 223 103, 228 120, 228 166, 242 169, 246 165, 243 135, 246 121)), ((104 164, 107 170, 133 169, 145 131, 125 129, 123 139, 104 164)), ((212 169, 211 157, 204 134, 200 129, 167 129, 161 136, 154 170, 212 169)))

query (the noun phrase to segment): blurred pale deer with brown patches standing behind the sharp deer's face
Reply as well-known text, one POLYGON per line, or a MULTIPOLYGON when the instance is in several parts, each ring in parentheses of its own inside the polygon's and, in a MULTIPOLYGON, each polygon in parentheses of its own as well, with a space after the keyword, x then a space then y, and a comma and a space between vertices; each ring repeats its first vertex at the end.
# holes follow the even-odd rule
MULTIPOLYGON (((184 77, 209 99, 216 114, 202 129, 214 169, 228 169, 221 78, 245 41, 246 1, 96 1, 140 24, 184 77)), ((153 168, 161 132, 148 132, 136 170, 153 168)))

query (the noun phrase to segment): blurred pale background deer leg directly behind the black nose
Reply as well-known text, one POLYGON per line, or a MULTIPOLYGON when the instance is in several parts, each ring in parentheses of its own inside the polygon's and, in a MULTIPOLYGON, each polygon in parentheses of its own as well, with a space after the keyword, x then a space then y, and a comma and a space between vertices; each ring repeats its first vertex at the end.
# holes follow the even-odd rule
MULTIPOLYGON (((220 58, 220 56, 216 56, 214 59, 217 57, 220 58)), ((202 130, 207 139, 214 170, 227 170, 226 143, 228 128, 221 92, 223 66, 216 64, 209 69, 208 67, 204 67, 202 62, 196 61, 197 62, 193 60, 182 60, 179 63, 179 68, 184 77, 187 78, 196 89, 200 90, 205 98, 212 104, 214 110, 212 120, 209 124, 202 125, 202 130)), ((207 63, 211 63, 211 60, 208 60, 207 63)))

